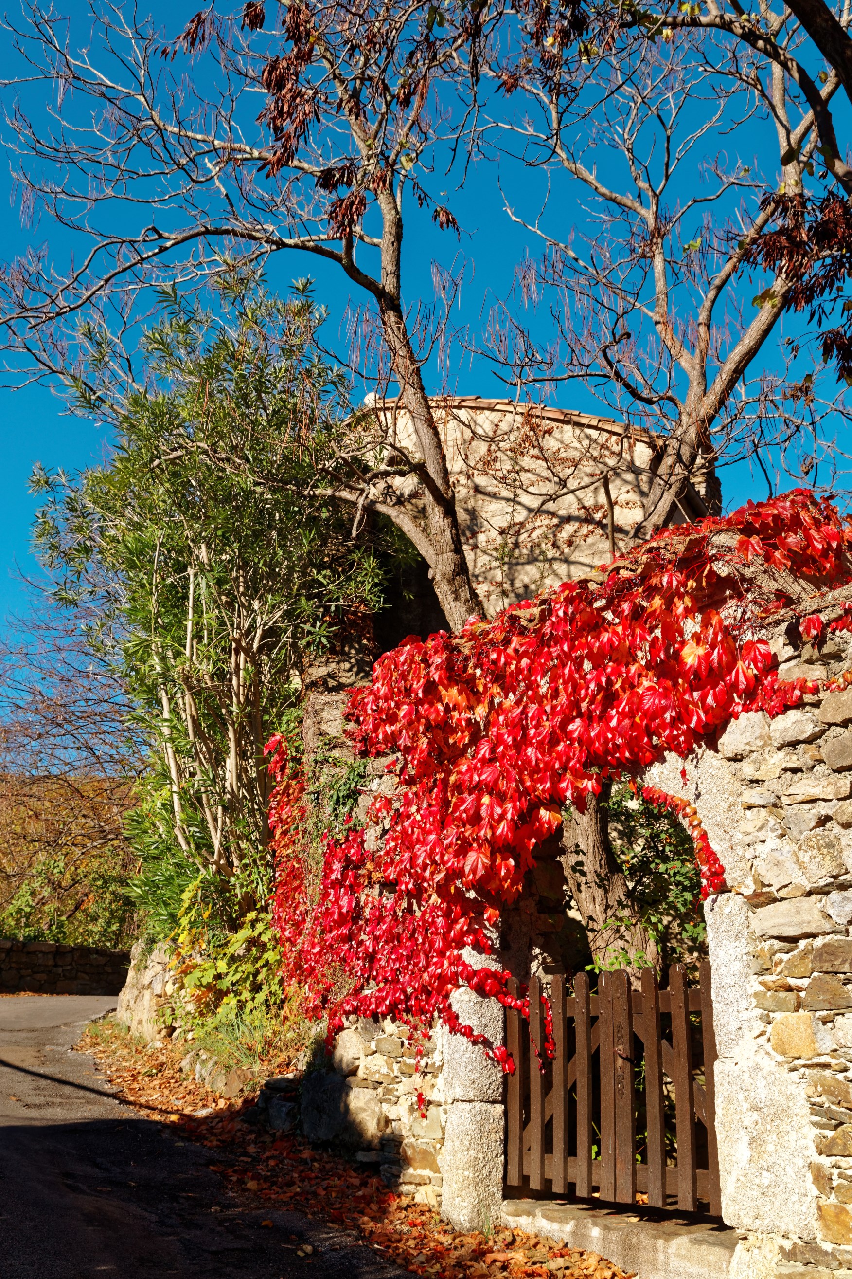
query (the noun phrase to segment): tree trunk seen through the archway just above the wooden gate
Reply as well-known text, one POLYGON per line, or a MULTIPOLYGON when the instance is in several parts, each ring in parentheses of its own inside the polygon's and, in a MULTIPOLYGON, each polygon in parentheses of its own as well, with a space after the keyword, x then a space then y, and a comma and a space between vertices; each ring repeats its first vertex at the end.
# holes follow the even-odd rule
POLYGON ((574 811, 562 831, 566 884, 582 916, 591 957, 602 968, 659 967, 657 943, 630 900, 625 874, 609 843, 605 788, 574 811))

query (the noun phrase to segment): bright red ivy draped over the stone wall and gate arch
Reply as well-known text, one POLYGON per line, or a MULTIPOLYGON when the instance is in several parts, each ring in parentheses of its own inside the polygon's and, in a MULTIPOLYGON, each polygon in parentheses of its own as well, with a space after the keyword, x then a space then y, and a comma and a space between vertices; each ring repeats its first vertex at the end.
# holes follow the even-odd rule
MULTIPOLYGON (((313 908, 300 783, 273 739, 286 976, 314 1014, 328 1016, 330 1032, 349 1013, 424 1031, 437 1017, 512 1071, 506 1049, 462 1024, 450 999, 468 986, 525 1013, 526 1000, 508 994, 508 972, 468 962, 465 949, 492 954, 501 911, 558 830, 563 804, 582 808, 602 779, 636 778, 667 751, 686 757, 743 711, 778 715, 815 688, 778 679, 766 622, 792 602, 791 577, 812 595, 851 581, 851 538, 830 503, 797 490, 667 530, 593 578, 471 620, 457 636, 406 640, 347 707, 356 748, 392 756, 396 793, 369 813, 387 834, 379 848, 361 829, 328 840, 313 908)), ((821 634, 816 616, 806 634, 821 634)), ((686 821, 703 895, 723 889, 695 808, 644 793, 686 821)))

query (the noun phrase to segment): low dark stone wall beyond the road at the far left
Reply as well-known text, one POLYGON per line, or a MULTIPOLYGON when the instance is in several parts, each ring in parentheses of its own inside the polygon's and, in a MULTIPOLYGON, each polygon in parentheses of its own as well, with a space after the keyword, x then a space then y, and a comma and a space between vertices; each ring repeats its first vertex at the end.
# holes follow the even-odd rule
POLYGON ((130 955, 55 941, 0 941, 0 994, 118 995, 130 955))

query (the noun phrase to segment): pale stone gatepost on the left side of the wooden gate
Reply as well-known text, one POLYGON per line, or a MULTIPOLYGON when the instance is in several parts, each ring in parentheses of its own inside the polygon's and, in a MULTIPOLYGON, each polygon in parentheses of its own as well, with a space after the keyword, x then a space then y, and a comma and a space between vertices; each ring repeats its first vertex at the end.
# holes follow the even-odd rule
MULTIPOLYGON (((499 967, 497 959, 473 952, 464 958, 479 968, 499 967)), ((493 1044, 503 1042, 505 1014, 496 999, 483 999, 464 987, 451 1003, 464 1024, 493 1044)), ((503 1072, 461 1035, 443 1028, 441 1035, 443 1067, 438 1087, 447 1115, 441 1215, 457 1230, 491 1233, 499 1223, 503 1200, 503 1072)))

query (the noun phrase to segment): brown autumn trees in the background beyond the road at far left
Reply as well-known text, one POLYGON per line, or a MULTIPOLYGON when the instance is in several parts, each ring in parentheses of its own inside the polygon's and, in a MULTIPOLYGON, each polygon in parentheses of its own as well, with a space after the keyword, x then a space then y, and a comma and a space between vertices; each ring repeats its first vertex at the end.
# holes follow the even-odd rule
POLYGON ((144 748, 96 619, 34 596, 0 641, 0 936, 121 945, 144 748))

